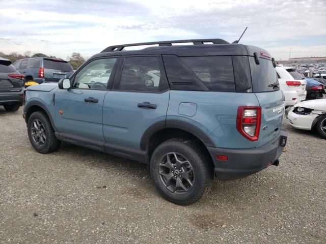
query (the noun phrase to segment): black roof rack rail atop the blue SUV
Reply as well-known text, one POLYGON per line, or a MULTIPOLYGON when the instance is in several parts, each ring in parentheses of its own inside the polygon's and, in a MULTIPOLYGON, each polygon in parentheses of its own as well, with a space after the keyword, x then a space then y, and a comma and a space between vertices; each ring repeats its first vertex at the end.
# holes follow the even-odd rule
POLYGON ((125 47, 132 46, 144 46, 144 45, 155 45, 158 46, 172 46, 172 43, 193 43, 194 45, 202 45, 204 42, 211 42, 213 44, 229 44, 229 42, 223 39, 190 39, 190 40, 175 40, 175 41, 161 41, 161 42, 141 42, 141 43, 131 43, 123 45, 115 45, 105 48, 101 52, 112 52, 112 51, 122 51, 125 47))

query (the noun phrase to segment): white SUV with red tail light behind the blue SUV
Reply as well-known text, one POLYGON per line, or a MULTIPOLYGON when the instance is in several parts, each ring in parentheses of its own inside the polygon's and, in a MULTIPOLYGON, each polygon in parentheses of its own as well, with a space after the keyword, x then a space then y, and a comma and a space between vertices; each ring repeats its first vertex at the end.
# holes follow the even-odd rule
POLYGON ((285 106, 294 104, 306 99, 306 80, 292 67, 276 67, 277 77, 279 78, 280 89, 285 96, 285 106))

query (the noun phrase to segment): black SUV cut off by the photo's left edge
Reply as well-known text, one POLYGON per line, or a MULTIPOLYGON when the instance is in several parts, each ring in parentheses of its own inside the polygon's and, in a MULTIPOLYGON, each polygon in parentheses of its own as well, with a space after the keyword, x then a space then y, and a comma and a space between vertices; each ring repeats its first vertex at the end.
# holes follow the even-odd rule
POLYGON ((8 112, 16 111, 24 101, 24 76, 11 61, 0 57, 0 105, 8 112))

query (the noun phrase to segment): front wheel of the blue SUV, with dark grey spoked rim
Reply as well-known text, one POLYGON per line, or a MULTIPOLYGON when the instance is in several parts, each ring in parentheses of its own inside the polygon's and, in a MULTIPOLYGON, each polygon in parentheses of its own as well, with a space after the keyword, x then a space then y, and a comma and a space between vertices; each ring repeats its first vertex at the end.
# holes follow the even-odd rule
POLYGON ((56 151, 60 141, 55 136, 48 116, 44 112, 34 112, 29 117, 27 130, 30 142, 39 153, 47 154, 56 151))

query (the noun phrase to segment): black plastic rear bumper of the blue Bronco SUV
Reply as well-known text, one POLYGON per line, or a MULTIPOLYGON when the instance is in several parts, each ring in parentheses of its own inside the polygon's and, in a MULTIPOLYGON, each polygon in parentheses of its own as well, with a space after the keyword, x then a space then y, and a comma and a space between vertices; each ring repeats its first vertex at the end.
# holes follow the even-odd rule
POLYGON ((207 147, 213 163, 215 176, 221 180, 243 178, 267 168, 278 160, 283 152, 281 140, 287 138, 287 131, 281 129, 273 141, 250 149, 226 149, 207 147), (216 159, 216 155, 228 156, 227 161, 216 159))

